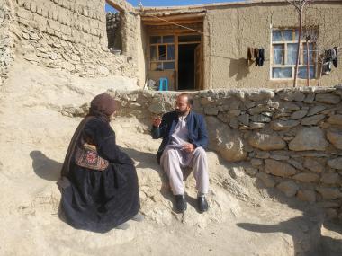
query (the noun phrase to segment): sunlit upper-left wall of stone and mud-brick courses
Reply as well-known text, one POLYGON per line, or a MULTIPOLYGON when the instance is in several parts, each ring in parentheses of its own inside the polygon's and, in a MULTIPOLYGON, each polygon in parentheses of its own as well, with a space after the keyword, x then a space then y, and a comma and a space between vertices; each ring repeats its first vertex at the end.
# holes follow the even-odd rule
MULTIPOLYGON (((17 52, 38 65, 77 75, 137 77, 137 52, 130 45, 138 32, 122 39, 123 55, 113 55, 108 49, 104 4, 104 0, 17 0, 17 52)), ((122 29, 134 31, 139 18, 129 4, 124 7, 129 10, 122 9, 122 29)))

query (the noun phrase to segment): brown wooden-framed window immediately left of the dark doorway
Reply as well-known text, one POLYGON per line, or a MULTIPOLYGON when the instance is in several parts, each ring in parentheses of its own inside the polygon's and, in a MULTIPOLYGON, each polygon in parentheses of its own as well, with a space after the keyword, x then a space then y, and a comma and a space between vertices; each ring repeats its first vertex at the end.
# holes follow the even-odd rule
POLYGON ((175 36, 149 37, 150 70, 175 69, 175 36))

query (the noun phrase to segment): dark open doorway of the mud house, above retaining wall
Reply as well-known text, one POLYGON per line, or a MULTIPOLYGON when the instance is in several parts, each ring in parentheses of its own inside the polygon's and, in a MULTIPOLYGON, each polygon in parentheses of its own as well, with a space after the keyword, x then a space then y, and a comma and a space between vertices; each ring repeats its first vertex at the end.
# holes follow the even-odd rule
POLYGON ((178 45, 178 90, 196 89, 195 53, 199 45, 199 43, 178 45))

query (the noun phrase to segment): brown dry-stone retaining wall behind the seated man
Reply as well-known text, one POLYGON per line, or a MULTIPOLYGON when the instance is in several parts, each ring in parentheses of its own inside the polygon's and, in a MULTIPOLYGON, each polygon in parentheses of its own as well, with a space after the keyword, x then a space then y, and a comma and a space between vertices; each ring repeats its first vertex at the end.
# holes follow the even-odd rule
MULTIPOLYGON (((176 93, 112 92, 121 115, 149 126, 172 110, 176 93)), ((210 149, 229 162, 247 162, 249 175, 288 197, 317 203, 342 218, 342 85, 282 90, 193 93, 205 115, 210 149)), ((147 127, 148 127, 147 126, 147 127)))

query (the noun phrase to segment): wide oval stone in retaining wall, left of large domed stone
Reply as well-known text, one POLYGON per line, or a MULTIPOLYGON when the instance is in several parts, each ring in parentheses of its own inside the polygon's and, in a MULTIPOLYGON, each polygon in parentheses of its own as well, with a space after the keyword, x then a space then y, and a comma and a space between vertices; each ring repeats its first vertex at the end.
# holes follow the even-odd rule
POLYGON ((248 143, 250 146, 259 148, 261 150, 277 150, 286 147, 286 143, 281 137, 263 133, 254 133, 248 137, 248 143))

